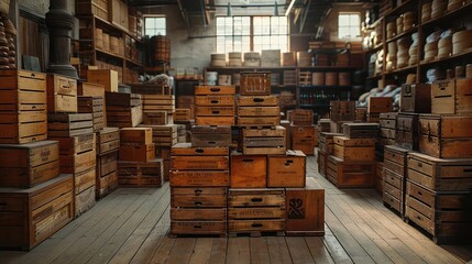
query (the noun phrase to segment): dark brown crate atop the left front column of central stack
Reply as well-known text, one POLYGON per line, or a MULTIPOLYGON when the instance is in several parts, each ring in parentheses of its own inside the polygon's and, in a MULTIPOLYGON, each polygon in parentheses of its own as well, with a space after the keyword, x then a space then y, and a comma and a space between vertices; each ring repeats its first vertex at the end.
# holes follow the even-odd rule
POLYGON ((231 146, 231 127, 229 125, 194 125, 191 127, 191 145, 231 146))

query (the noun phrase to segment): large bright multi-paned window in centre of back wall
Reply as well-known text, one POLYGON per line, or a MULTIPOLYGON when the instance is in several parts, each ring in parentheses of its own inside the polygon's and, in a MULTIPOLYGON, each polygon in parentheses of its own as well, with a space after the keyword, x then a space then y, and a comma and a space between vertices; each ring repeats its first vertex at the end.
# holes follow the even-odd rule
POLYGON ((217 53, 288 50, 286 16, 217 18, 217 53))

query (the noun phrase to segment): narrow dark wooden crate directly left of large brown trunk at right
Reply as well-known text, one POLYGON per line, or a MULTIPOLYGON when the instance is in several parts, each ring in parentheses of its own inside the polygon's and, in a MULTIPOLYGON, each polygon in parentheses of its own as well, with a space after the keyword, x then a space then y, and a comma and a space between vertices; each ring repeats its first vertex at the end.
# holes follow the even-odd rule
POLYGON ((396 145, 413 151, 418 150, 418 117, 417 113, 398 113, 395 134, 396 145))

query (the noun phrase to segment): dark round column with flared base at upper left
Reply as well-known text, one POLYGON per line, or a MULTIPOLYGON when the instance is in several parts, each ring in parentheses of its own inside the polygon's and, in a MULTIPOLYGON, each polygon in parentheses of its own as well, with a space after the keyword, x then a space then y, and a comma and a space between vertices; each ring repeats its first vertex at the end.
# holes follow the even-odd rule
POLYGON ((47 72, 78 78, 77 70, 70 65, 70 34, 74 16, 67 12, 67 2, 51 0, 46 13, 50 30, 50 66, 47 72))

